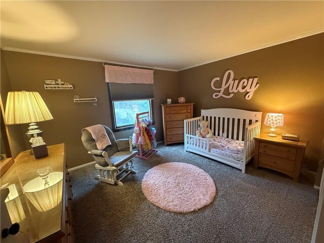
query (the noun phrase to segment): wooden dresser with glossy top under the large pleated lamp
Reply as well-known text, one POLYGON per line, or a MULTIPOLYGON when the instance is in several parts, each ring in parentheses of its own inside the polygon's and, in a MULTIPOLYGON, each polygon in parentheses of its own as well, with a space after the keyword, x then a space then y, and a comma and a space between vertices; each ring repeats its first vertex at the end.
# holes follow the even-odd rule
MULTIPOLYGON (((20 231, 1 242, 74 242, 72 190, 65 145, 48 146, 49 155, 35 159, 21 152, 1 178, 10 193, 5 200, 11 223, 20 231)), ((1 225, 8 228, 10 225, 1 225)))

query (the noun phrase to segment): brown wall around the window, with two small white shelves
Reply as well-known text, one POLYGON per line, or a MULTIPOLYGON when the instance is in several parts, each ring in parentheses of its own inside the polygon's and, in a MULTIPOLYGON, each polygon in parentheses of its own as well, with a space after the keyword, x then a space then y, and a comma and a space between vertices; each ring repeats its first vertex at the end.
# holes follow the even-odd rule
MULTIPOLYGON (((101 62, 50 57, 4 51, 12 90, 37 91, 43 97, 54 119, 38 123, 48 145, 65 143, 70 168, 93 161, 81 142, 81 129, 104 124, 111 127, 110 105, 104 67, 101 62), (58 79, 73 85, 73 90, 45 90, 44 79, 58 79), (97 97, 93 103, 74 103, 73 95, 97 97)), ((154 71, 154 119, 156 140, 162 140, 160 104, 177 97, 177 72, 154 71)), ((27 125, 21 125, 23 133, 27 125)), ((129 137, 132 130, 115 133, 116 138, 129 137)), ((25 144, 30 147, 27 137, 25 144)))

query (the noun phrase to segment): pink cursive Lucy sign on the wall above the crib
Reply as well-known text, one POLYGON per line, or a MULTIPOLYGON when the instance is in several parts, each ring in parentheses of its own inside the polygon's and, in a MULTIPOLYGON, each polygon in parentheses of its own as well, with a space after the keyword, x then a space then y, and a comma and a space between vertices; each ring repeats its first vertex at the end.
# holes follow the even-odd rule
POLYGON ((214 83, 216 81, 219 81, 220 77, 215 77, 212 80, 211 87, 213 90, 217 90, 219 92, 215 92, 213 94, 213 98, 219 98, 219 97, 225 97, 225 98, 231 98, 236 92, 248 92, 248 94, 245 96, 247 100, 250 100, 253 96, 253 92, 259 87, 259 84, 257 84, 258 78, 249 78, 242 79, 238 83, 238 79, 233 80, 234 77, 234 72, 232 70, 228 70, 225 72, 224 77, 223 77, 223 82, 222 82, 222 87, 221 88, 215 88, 214 83), (229 78, 227 78, 229 76, 229 78), (228 79, 228 80, 227 80, 228 79), (228 89, 228 92, 230 93, 229 95, 224 95, 225 89, 228 89))

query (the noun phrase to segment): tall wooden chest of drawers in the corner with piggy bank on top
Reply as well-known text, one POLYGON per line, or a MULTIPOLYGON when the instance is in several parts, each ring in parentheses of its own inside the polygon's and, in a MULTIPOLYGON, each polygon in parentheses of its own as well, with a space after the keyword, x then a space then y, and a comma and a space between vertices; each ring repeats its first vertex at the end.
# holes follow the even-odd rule
POLYGON ((184 119, 192 118, 193 103, 162 104, 164 145, 184 142, 184 119))

